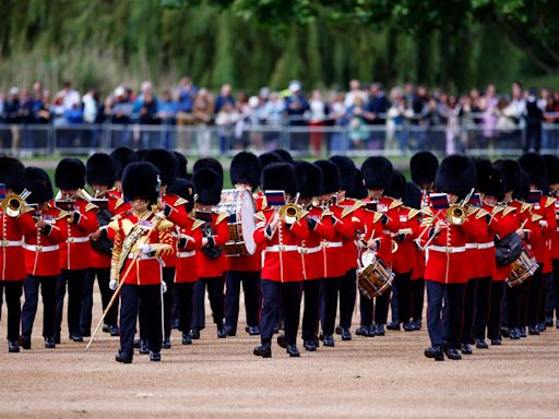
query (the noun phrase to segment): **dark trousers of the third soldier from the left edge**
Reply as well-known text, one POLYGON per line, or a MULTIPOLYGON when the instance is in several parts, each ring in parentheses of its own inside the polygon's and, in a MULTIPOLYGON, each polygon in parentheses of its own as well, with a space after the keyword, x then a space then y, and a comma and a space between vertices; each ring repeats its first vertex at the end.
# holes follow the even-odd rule
POLYGON ((64 308, 66 285, 68 283, 68 331, 80 334, 80 318, 82 315, 82 295, 86 270, 62 270, 57 282, 57 312, 55 316, 55 333, 60 335, 62 311, 64 308))

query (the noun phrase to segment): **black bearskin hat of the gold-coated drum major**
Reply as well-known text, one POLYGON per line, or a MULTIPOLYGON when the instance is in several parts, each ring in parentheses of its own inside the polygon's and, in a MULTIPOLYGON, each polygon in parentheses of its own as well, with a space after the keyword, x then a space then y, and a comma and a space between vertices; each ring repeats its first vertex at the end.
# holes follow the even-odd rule
POLYGON ((155 204, 159 197, 159 170, 152 163, 136 161, 124 168, 122 192, 127 200, 144 197, 155 204))

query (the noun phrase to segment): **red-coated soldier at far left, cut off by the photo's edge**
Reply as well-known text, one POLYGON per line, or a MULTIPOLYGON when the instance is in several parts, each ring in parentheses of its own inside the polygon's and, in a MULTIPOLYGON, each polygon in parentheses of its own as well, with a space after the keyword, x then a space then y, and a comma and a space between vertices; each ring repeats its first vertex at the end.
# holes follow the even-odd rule
MULTIPOLYGON (((25 184, 23 164, 15 158, 0 156, 0 183, 3 183, 5 194, 22 193, 25 184)), ((2 196, 2 200, 5 199, 2 196)), ((0 311, 2 294, 5 289, 8 350, 19 352, 21 297, 26 277, 22 237, 35 231, 35 222, 29 214, 32 210, 27 206, 21 205, 15 210, 4 205, 4 202, 2 201, 0 205, 0 311)))

